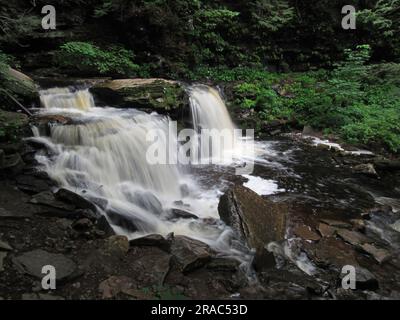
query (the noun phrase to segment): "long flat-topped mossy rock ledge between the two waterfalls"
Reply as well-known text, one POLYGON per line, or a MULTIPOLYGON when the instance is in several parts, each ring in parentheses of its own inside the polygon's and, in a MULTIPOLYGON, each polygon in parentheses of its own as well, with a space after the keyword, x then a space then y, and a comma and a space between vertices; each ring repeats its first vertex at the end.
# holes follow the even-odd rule
POLYGON ((94 86, 91 92, 96 100, 115 107, 170 113, 188 105, 182 85, 164 79, 110 80, 94 86))

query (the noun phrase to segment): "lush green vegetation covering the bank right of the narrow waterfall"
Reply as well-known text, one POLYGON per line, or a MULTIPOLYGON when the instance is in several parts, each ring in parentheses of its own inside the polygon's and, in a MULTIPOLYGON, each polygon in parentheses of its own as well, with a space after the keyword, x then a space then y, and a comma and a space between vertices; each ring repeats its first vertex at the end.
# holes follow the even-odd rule
POLYGON ((200 68, 187 77, 232 83, 233 105, 262 123, 295 120, 349 143, 400 151, 400 64, 367 64, 370 47, 346 50, 333 70, 271 73, 251 68, 200 68))

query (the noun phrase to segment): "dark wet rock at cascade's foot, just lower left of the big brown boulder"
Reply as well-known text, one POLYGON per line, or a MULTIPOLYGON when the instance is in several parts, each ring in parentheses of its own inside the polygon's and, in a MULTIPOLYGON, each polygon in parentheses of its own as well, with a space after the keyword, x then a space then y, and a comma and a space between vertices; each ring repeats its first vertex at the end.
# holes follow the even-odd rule
POLYGON ((171 245, 171 253, 183 273, 203 267, 211 259, 211 249, 198 240, 177 236, 171 245))

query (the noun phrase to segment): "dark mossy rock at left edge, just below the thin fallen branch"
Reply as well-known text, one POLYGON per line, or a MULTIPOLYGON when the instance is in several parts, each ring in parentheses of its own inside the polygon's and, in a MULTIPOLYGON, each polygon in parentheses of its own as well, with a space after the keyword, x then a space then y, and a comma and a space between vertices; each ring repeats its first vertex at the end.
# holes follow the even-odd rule
POLYGON ((23 113, 0 110, 0 142, 16 141, 29 130, 29 118, 23 113))

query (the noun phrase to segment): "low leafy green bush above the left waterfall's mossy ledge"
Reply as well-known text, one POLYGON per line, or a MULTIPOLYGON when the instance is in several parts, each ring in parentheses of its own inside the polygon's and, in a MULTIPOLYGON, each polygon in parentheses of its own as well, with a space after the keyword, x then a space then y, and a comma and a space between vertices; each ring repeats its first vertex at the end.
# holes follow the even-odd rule
POLYGON ((134 54, 121 46, 101 49, 88 42, 68 42, 60 47, 56 59, 64 68, 107 75, 134 76, 139 66, 133 62, 134 54))

